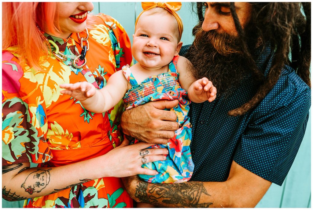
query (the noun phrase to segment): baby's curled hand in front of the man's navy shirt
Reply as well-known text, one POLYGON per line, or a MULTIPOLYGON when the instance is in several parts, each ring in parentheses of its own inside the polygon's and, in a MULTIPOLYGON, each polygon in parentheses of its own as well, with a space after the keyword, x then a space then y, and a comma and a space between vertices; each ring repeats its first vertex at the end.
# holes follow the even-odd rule
POLYGON ((195 81, 193 90, 201 100, 212 102, 216 98, 216 87, 214 87, 212 82, 206 77, 195 81))

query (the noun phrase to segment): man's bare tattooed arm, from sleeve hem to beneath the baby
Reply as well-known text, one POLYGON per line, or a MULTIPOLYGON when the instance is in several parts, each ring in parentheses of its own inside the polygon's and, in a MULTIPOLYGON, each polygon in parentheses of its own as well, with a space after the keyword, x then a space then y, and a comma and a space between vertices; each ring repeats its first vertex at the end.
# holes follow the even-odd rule
POLYGON ((183 182, 152 184, 137 176, 123 178, 129 195, 136 202, 159 207, 252 208, 261 200, 271 182, 233 161, 224 182, 183 182))

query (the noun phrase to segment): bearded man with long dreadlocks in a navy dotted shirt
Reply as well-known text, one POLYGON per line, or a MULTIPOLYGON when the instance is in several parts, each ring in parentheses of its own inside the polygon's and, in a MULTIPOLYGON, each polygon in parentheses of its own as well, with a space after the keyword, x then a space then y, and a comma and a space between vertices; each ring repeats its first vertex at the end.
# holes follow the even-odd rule
MULTIPOLYGON (((185 56, 193 76, 211 80, 218 97, 191 105, 191 180, 152 184, 129 177, 124 184, 135 201, 159 207, 254 207, 271 183, 282 185, 305 133, 310 3, 197 3, 197 11, 185 56)), ((178 125, 162 109, 176 104, 127 110, 124 133, 167 143, 178 125)))

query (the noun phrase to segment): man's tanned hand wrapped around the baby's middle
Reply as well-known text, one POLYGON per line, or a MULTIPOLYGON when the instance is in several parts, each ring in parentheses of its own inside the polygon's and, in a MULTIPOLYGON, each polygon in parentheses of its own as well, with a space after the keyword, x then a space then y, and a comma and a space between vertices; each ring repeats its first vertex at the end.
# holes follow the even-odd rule
POLYGON ((164 109, 177 104, 177 100, 158 100, 126 110, 121 117, 124 134, 147 143, 166 144, 174 137, 179 124, 177 115, 164 109))

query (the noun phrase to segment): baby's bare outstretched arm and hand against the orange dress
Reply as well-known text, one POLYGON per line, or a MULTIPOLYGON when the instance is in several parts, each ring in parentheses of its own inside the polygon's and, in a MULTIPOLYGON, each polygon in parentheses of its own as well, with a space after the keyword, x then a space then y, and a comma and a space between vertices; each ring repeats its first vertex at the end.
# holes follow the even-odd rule
POLYGON ((86 110, 94 113, 102 113, 115 106, 127 91, 127 80, 122 71, 117 71, 110 76, 107 85, 97 90, 89 82, 77 82, 74 84, 62 84, 62 94, 67 94, 80 100, 86 110))

